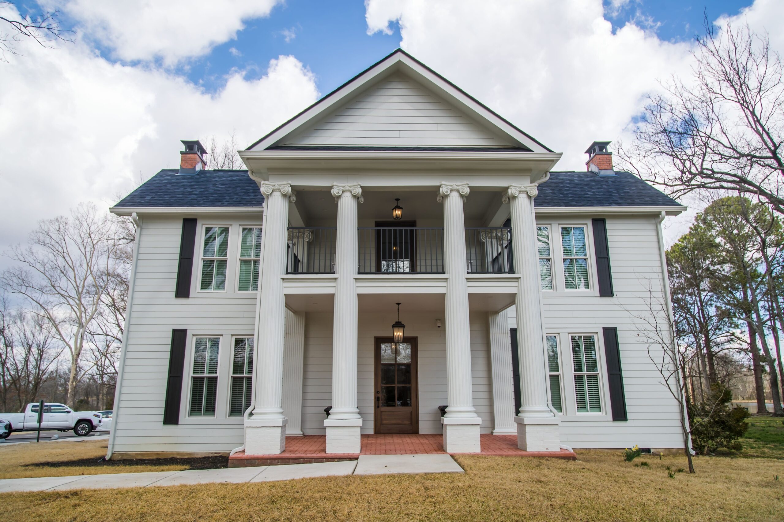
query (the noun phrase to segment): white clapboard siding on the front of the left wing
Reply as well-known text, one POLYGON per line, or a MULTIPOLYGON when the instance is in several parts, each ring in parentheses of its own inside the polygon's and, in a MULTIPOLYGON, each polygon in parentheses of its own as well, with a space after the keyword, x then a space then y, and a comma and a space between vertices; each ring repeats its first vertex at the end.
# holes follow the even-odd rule
POLYGON ((194 291, 201 248, 198 221, 191 297, 176 299, 174 287, 180 257, 182 218, 143 219, 140 229, 136 283, 129 318, 128 345, 120 398, 115 410, 114 452, 229 452, 242 445, 241 417, 228 417, 230 344, 232 335, 252 335, 256 293, 235 292, 240 225, 259 225, 256 218, 216 218, 209 225, 228 225, 229 263, 227 291, 194 291), (180 403, 180 424, 165 426, 163 408, 169 374, 172 329, 188 330, 188 343, 180 403), (188 418, 191 347, 194 335, 221 338, 216 416, 188 418))

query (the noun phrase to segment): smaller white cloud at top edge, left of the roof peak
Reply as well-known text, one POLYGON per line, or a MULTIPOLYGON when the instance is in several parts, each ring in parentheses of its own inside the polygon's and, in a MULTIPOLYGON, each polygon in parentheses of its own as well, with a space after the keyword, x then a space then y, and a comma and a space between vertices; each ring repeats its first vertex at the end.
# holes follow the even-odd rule
POLYGON ((245 20, 269 16, 281 0, 50 0, 78 29, 123 60, 160 58, 167 66, 236 38, 245 20))

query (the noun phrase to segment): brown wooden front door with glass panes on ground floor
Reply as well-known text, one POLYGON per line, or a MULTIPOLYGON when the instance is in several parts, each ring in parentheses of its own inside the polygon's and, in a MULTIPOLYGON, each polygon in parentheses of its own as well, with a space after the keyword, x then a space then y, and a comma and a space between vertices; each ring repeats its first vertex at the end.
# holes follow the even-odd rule
POLYGON ((392 337, 376 337, 376 412, 373 433, 418 434, 416 337, 404 337, 392 353, 392 337))

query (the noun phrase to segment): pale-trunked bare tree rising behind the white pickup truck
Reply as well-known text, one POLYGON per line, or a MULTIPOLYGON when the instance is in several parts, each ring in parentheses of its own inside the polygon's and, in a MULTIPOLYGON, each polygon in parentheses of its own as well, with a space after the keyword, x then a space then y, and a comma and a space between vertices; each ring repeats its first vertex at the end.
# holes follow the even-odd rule
POLYGON ((115 221, 80 204, 71 216, 39 221, 26 248, 5 255, 17 266, 0 275, 9 293, 25 297, 71 355, 67 401, 72 404, 82 376, 79 360, 90 329, 104 310, 117 272, 115 221))

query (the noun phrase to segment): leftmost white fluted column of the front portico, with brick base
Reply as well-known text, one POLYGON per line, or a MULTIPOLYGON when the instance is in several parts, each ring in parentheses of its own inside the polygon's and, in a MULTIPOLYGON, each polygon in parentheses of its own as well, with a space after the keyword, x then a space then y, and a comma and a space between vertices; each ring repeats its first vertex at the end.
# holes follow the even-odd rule
POLYGON ((286 418, 283 414, 283 350, 285 339, 285 296, 281 275, 285 274, 286 229, 289 200, 294 200, 289 183, 261 183, 264 195, 259 293, 256 299, 256 405, 245 419, 245 453, 267 455, 285 449, 286 418))

